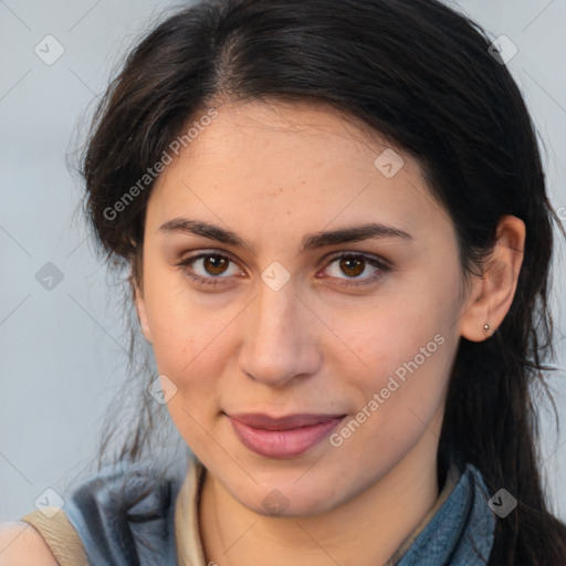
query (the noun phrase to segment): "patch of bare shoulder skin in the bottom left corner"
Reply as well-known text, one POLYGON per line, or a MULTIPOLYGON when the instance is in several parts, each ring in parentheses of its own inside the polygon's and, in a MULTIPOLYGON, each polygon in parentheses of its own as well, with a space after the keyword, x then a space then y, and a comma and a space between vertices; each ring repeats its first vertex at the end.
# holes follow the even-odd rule
POLYGON ((42 536, 29 523, 0 523, 0 566, 57 566, 42 536))

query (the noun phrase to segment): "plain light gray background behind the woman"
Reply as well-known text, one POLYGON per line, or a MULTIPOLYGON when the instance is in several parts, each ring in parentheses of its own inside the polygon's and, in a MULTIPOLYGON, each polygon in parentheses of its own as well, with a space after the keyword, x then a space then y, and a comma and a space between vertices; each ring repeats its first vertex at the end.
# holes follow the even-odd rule
MULTIPOLYGON (((461 0, 495 39, 518 48, 509 67, 547 148, 556 208, 566 207, 566 2, 461 0)), ((177 2, 179 4, 179 2, 177 2)), ((81 187, 65 167, 73 132, 113 64, 170 2, 0 0, 0 520, 34 510, 88 470, 105 408, 126 377, 122 311, 76 219, 81 187), (48 34, 64 54, 46 65, 48 34), (35 273, 53 262, 64 279, 45 290, 35 273)), ((566 218, 566 208, 562 209, 566 218)), ((566 303, 564 245, 555 307, 566 303)), ((555 310, 559 366, 566 321, 555 310)), ((552 378, 565 412, 565 373, 552 378)), ((555 511, 566 520, 566 434, 544 429, 543 459, 555 511)))

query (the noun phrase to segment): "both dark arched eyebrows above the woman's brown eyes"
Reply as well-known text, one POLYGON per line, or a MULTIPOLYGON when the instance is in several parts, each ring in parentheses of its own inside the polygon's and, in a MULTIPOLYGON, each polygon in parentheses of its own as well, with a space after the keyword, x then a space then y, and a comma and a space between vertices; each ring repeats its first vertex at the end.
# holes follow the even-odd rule
MULTIPOLYGON (((192 235, 201 235, 209 240, 233 245, 237 248, 248 248, 254 253, 254 248, 247 240, 239 237, 235 232, 210 224, 202 220, 190 220, 188 218, 174 218, 159 227, 159 232, 181 232, 192 235)), ((301 252, 317 250, 327 245, 336 245, 347 242, 360 242, 370 239, 381 238, 400 238, 403 240, 412 240, 405 230, 399 228, 380 224, 378 222, 369 222, 365 224, 355 224, 336 230, 314 232, 305 234, 302 240, 301 252)))

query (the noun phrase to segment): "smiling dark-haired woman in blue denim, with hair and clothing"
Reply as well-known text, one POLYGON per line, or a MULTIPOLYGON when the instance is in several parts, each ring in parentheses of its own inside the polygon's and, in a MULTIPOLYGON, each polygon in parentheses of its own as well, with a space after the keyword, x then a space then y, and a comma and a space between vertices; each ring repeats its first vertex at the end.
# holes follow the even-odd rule
POLYGON ((159 474, 142 419, 6 564, 566 563, 532 397, 557 218, 490 44, 431 0, 212 0, 129 54, 87 212, 195 455, 159 474))

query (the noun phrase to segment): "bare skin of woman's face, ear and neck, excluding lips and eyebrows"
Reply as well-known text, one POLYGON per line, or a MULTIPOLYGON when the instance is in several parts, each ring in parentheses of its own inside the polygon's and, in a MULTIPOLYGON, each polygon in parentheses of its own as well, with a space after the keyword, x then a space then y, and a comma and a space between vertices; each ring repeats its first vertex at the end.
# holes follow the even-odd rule
POLYGON ((388 145, 376 133, 322 106, 249 102, 218 112, 156 181, 135 286, 159 374, 177 388, 171 418, 208 470, 206 560, 382 564, 438 497, 451 364, 461 336, 485 339, 483 325, 491 334, 509 311, 524 224, 504 217, 485 275, 464 275, 450 217, 418 164, 396 150, 405 165, 386 178, 374 160, 388 145), (160 230, 178 218, 230 229, 253 250, 160 230), (365 222, 411 238, 301 252, 307 233, 365 222), (332 258, 345 251, 392 269, 366 262, 353 275, 332 258), (178 265, 201 252, 232 262, 178 265), (279 291, 261 279, 274 261, 290 276, 279 291), (227 284, 193 282, 191 268, 227 284), (438 335, 442 345, 339 447, 325 440, 293 459, 264 458, 223 415, 340 413, 348 422, 438 335), (281 515, 262 503, 273 490, 287 504, 281 515))

